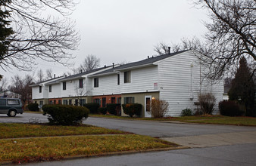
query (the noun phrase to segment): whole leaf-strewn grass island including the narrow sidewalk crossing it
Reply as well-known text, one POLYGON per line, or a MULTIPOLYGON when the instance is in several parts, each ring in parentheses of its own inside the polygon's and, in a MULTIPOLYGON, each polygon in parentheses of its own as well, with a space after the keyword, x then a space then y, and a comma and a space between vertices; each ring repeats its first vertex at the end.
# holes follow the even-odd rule
POLYGON ((177 146, 153 137, 90 125, 0 124, 0 164, 5 161, 52 161, 73 156, 140 152, 177 146))

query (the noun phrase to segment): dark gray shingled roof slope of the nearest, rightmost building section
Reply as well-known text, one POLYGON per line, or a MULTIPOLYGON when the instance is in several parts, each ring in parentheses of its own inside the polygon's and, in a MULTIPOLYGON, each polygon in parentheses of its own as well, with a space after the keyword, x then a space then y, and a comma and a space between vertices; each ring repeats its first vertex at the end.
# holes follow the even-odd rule
MULTIPOLYGON (((186 50, 186 51, 188 51, 188 50, 186 50)), ((159 55, 159 56, 156 56, 156 57, 149 57, 145 60, 140 60, 140 61, 133 62, 133 63, 126 63, 124 65, 117 66, 114 69, 112 68, 112 69, 105 70, 103 72, 98 72, 95 75, 105 75, 105 74, 108 74, 108 73, 111 74, 115 70, 129 69, 129 68, 136 67, 136 66, 146 66, 146 65, 155 63, 159 60, 164 60, 167 57, 172 57, 176 54, 181 54, 181 53, 186 52, 186 51, 179 51, 179 52, 176 52, 176 53, 164 54, 164 55, 159 55)))

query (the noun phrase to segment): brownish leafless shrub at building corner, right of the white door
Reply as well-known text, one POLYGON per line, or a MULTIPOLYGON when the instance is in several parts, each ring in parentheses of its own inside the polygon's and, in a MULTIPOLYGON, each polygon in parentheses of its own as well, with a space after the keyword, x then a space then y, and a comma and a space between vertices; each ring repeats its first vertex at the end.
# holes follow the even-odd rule
POLYGON ((163 118, 168 112, 169 103, 165 100, 151 100, 151 115, 154 118, 163 118))

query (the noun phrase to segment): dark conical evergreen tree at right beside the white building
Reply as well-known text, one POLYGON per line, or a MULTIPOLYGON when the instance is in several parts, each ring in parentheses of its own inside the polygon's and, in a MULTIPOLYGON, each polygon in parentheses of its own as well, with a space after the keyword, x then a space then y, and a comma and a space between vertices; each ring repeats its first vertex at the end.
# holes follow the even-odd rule
POLYGON ((239 61, 239 69, 228 92, 229 100, 236 100, 245 107, 245 115, 256 115, 254 110, 255 84, 245 57, 239 61))

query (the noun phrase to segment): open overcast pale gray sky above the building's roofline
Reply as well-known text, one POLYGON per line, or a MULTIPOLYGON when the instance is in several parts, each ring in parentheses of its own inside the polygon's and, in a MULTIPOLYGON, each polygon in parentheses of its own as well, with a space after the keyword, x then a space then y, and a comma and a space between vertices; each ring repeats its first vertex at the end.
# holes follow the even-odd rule
MULTIPOLYGON (((99 57, 101 66, 145 59, 155 54, 159 42, 200 38, 206 32, 202 22, 208 20, 206 11, 194 8, 192 0, 81 0, 71 17, 81 37, 73 51, 75 66, 88 54, 99 57)), ((50 68, 56 75, 70 71, 58 63, 39 61, 33 72, 50 68)), ((2 75, 26 73, 13 69, 2 75)))

